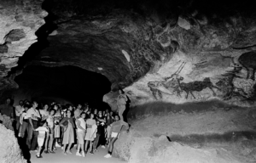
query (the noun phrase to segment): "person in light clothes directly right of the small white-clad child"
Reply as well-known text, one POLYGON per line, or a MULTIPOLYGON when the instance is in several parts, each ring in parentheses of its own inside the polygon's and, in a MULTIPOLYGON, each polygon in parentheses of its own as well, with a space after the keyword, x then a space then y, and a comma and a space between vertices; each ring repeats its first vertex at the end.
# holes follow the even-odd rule
POLYGON ((55 110, 53 110, 53 109, 49 110, 49 115, 47 116, 47 119, 46 119, 49 131, 47 132, 46 139, 45 139, 45 145, 44 145, 44 153, 45 154, 49 154, 49 153, 54 154, 55 153, 53 151, 54 127, 55 127, 54 115, 55 115, 55 110))

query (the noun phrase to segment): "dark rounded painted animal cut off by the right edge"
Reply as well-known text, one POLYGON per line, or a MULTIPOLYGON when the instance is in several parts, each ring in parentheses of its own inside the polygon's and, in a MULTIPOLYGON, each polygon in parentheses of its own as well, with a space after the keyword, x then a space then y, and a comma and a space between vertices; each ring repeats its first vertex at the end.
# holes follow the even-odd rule
POLYGON ((239 63, 247 70, 247 79, 255 80, 256 51, 242 53, 238 59, 239 63))

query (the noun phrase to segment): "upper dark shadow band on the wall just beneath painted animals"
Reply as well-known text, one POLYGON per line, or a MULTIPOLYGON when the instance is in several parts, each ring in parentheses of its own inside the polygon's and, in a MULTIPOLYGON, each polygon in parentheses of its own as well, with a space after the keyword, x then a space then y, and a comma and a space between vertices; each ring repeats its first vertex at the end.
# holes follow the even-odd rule
POLYGON ((139 119, 145 115, 166 115, 169 112, 184 111, 186 113, 200 112, 204 110, 224 108, 230 110, 231 108, 237 108, 235 105, 225 104, 219 100, 211 100, 205 102, 193 102, 185 104, 172 104, 165 102, 152 102, 147 104, 137 105, 136 107, 130 108, 127 118, 128 119, 139 119))

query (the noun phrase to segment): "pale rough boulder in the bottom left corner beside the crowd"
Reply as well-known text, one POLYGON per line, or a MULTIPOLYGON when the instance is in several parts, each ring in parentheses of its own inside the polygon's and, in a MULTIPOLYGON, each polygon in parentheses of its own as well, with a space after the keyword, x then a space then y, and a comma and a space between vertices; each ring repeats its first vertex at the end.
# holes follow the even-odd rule
POLYGON ((0 124, 0 162, 26 163, 20 155, 20 146, 15 138, 15 132, 0 124))

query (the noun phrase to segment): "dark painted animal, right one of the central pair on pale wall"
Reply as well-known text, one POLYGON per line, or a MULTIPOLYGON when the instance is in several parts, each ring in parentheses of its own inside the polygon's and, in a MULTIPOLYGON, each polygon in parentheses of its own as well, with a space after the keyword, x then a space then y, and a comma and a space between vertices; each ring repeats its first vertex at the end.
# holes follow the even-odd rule
MULTIPOLYGON (((212 93, 214 96, 216 95, 216 93, 214 93, 212 89, 215 86, 213 86, 209 77, 204 78, 203 81, 195 81, 195 82, 187 82, 187 83, 180 82, 182 80, 183 78, 181 78, 181 80, 178 80, 177 82, 179 83, 179 87, 181 88, 181 90, 187 93, 186 98, 189 97, 189 93, 193 96, 193 98, 195 98, 195 95, 193 94, 194 91, 201 92, 203 89, 207 87, 209 87, 212 90, 212 93)), ((215 88, 218 89, 218 87, 215 87, 215 88)))

